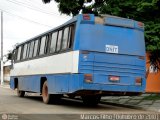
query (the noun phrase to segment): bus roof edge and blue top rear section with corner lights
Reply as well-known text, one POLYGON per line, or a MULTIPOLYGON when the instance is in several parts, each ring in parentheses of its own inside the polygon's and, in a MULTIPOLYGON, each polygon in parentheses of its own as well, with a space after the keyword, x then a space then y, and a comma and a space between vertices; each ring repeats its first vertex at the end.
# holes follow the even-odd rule
POLYGON ((39 34, 35 37, 32 37, 32 38, 18 44, 16 47, 18 47, 26 42, 32 41, 36 38, 39 38, 47 33, 54 31, 54 30, 63 28, 73 22, 76 22, 76 21, 79 21, 79 23, 104 24, 104 25, 119 26, 119 27, 140 28, 140 29, 144 30, 143 23, 137 22, 135 20, 128 19, 128 18, 122 18, 122 17, 112 16, 112 15, 107 15, 107 14, 106 15, 102 14, 100 16, 95 16, 94 14, 79 14, 79 15, 71 18, 70 20, 68 20, 64 24, 57 26, 51 30, 48 30, 42 34, 39 34), (139 25, 141 25, 141 26, 139 27, 139 25))

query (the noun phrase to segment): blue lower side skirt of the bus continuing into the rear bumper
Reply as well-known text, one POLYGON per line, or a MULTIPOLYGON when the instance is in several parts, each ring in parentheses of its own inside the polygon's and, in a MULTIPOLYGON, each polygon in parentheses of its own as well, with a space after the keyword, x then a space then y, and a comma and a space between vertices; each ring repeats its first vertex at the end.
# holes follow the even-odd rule
MULTIPOLYGON (((144 88, 135 85, 119 85, 119 84, 99 84, 86 83, 84 81, 84 74, 59 74, 59 75, 45 75, 48 81, 48 93, 50 94, 69 94, 78 93, 80 91, 85 94, 86 91, 104 92, 143 92, 144 88)), ((41 75, 18 77, 19 90, 28 92, 41 93, 40 88, 41 75)), ((145 81, 143 81, 142 84, 145 81)), ((11 83, 14 84, 14 77, 11 77, 11 83)), ((12 84, 12 85, 13 85, 12 84)), ((14 86, 11 88, 14 89, 14 86)))

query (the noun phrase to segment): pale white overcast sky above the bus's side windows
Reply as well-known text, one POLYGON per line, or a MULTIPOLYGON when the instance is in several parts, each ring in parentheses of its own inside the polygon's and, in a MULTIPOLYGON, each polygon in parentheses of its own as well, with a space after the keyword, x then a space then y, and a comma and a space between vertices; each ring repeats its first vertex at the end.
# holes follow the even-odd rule
POLYGON ((0 0, 3 11, 4 55, 17 43, 59 26, 71 17, 60 14, 57 3, 52 0, 0 0))

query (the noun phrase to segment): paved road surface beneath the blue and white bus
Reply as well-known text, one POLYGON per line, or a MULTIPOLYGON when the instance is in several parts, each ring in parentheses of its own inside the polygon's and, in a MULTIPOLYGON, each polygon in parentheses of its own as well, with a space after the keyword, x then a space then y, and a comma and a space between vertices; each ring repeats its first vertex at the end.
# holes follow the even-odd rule
MULTIPOLYGON (((118 107, 109 104, 99 104, 87 107, 79 100, 62 99, 59 105, 46 105, 40 95, 27 93, 24 98, 16 96, 16 91, 0 86, 0 114, 8 117, 23 118, 24 120, 47 119, 82 119, 82 114, 151 114, 151 111, 118 107), (62 115, 65 114, 65 115, 62 115), (72 114, 72 115, 71 115, 72 114), (76 115, 73 115, 76 114, 76 115), (15 115, 15 116, 14 116, 15 115), (78 117, 78 118, 77 118, 78 117)), ((154 112, 155 113, 155 112, 154 112)), ((93 116, 92 116, 93 117, 93 116)), ((0 116, 0 120, 2 117, 0 116)))

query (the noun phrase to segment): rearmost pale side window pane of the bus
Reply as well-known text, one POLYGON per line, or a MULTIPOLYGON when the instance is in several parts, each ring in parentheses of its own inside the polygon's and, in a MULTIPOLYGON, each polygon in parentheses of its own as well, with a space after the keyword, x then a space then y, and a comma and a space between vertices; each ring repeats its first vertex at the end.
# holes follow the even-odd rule
POLYGON ((66 27, 63 32, 62 50, 67 49, 68 33, 69 33, 69 27, 66 27))

